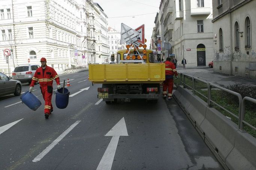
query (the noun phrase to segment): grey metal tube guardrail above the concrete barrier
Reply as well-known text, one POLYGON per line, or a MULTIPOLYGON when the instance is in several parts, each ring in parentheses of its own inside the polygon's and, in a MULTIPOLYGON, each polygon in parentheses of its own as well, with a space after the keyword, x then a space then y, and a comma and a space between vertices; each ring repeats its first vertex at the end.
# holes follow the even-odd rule
POLYGON ((256 127, 252 126, 251 124, 248 124, 247 122, 244 121, 244 117, 245 117, 245 101, 250 101, 252 103, 255 103, 256 104, 256 99, 254 98, 251 98, 251 97, 244 97, 242 98, 241 94, 237 93, 237 92, 234 92, 232 90, 229 90, 229 89, 226 89, 226 88, 223 88, 221 86, 218 86, 218 85, 215 85, 215 84, 211 84, 209 82, 206 82, 206 81, 203 81, 199 78, 195 78, 193 76, 190 76, 190 75, 186 75, 184 73, 180 73, 181 75, 181 82, 180 84, 183 85, 183 88, 187 88, 189 87, 190 89, 192 89, 192 92, 193 92, 193 95, 197 93, 199 93, 200 95, 202 95, 203 97, 205 97, 207 99, 207 104, 208 104, 208 107, 212 107, 212 103, 216 104, 218 107, 220 107, 221 109, 225 110, 226 112, 228 112, 229 114, 231 114, 232 116, 234 116, 236 119, 238 119, 238 129, 240 130, 244 130, 244 124, 248 125, 249 127, 253 128, 254 130, 256 130, 256 127), (183 75, 183 76, 182 76, 183 75), (188 84, 186 84, 185 82, 185 77, 190 77, 192 79, 192 87, 189 86, 188 84), (200 93, 199 91, 196 90, 196 80, 197 81, 200 81, 200 82, 203 82, 205 84, 207 84, 207 92, 208 92, 208 96, 205 96, 203 95, 202 93, 200 93), (239 100, 239 115, 236 116, 234 113, 230 112, 229 110, 225 109, 224 107, 222 107, 220 104, 214 102, 212 100, 212 97, 211 97, 211 91, 212 91, 212 87, 214 88, 218 88, 222 91, 225 91, 229 94, 232 94, 232 95, 235 95, 236 97, 238 97, 238 100, 239 100))

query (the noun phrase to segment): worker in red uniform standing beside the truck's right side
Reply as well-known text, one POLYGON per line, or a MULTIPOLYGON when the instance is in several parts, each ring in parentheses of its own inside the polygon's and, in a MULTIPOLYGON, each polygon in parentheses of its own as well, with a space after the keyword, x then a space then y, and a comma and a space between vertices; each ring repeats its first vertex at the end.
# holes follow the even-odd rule
POLYGON ((175 65, 171 62, 170 57, 166 58, 165 61, 165 81, 163 83, 163 96, 164 98, 167 95, 168 88, 168 99, 172 99, 172 90, 173 90, 173 76, 175 75, 178 78, 178 73, 175 65))

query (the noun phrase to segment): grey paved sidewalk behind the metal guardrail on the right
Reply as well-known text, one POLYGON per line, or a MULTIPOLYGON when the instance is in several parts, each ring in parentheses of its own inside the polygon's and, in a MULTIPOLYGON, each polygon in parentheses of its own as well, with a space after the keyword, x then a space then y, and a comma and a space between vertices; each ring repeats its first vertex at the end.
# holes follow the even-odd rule
POLYGON ((256 79, 245 78, 241 76, 226 75, 221 73, 213 72, 212 68, 202 66, 202 67, 177 67, 178 73, 185 73, 190 76, 200 78, 204 81, 208 81, 217 85, 233 85, 236 83, 244 85, 256 86, 256 79))

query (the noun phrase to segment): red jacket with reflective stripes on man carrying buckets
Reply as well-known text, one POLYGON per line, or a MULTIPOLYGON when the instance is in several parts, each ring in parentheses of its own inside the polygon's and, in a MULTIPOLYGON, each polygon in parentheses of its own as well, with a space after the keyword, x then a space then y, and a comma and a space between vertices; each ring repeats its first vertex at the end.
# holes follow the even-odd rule
POLYGON ((41 87, 52 86, 53 80, 56 81, 57 85, 60 84, 59 75, 56 73, 56 71, 53 68, 46 66, 44 75, 43 75, 43 69, 42 67, 39 67, 32 78, 32 82, 30 86, 33 87, 37 81, 39 82, 41 87))

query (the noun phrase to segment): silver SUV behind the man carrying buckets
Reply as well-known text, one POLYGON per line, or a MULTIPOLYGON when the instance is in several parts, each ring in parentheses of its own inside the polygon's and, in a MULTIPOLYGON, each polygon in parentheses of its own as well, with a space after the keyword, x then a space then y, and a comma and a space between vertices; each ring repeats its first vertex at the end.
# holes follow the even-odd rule
POLYGON ((12 73, 12 78, 22 83, 31 83, 32 78, 40 66, 36 64, 17 65, 12 73))

